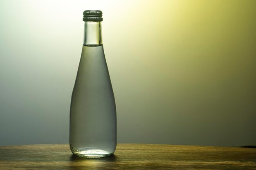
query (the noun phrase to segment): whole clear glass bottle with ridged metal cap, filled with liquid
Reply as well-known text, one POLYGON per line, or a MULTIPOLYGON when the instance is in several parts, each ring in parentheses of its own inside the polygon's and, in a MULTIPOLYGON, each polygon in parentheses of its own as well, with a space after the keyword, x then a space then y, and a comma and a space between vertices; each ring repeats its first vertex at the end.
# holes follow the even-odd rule
POLYGON ((117 145, 115 97, 104 55, 102 12, 83 12, 84 42, 70 106, 70 149, 80 157, 106 157, 117 145))

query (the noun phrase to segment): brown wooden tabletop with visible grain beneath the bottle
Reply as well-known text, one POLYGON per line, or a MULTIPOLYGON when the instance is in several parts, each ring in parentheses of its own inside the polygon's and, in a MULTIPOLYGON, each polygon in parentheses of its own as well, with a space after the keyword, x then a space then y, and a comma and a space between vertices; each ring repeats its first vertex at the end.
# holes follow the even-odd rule
POLYGON ((256 170, 256 149, 117 144, 105 158, 73 156, 68 144, 0 146, 0 170, 256 170))

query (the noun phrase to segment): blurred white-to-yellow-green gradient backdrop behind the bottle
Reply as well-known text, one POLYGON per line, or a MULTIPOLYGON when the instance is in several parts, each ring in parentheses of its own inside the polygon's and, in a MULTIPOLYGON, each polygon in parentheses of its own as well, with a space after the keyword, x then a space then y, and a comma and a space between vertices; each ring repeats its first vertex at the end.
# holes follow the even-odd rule
POLYGON ((1 0, 0 145, 69 142, 88 9, 118 143, 256 145, 255 0, 1 0))

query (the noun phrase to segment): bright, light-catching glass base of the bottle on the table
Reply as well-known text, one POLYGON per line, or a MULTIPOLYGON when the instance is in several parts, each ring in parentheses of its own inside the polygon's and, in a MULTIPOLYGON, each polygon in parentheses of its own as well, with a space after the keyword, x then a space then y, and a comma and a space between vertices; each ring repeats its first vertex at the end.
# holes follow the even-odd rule
POLYGON ((96 150, 96 149, 72 152, 72 153, 77 157, 84 157, 84 158, 103 158, 103 157, 108 157, 114 154, 114 153, 108 153, 104 150, 96 150))

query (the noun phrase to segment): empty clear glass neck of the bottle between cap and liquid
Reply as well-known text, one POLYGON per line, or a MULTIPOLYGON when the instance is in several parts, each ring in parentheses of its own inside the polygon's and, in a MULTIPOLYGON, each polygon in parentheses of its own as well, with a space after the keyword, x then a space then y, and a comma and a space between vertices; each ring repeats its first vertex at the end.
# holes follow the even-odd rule
POLYGON ((101 22, 85 21, 83 45, 100 46, 101 44, 101 22))

